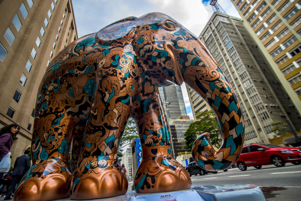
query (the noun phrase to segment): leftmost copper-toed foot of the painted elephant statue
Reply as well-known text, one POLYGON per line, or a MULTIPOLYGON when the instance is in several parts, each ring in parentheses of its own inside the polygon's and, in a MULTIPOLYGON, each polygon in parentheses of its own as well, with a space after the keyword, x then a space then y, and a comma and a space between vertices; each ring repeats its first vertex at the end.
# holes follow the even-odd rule
POLYGON ((29 177, 20 183, 13 196, 14 201, 46 201, 70 197, 71 174, 48 174, 43 177, 29 177))

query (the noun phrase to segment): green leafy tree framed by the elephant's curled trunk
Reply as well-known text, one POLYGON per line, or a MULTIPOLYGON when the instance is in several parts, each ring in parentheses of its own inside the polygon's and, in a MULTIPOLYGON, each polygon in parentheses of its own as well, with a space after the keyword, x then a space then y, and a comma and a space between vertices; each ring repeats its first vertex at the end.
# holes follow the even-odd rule
POLYGON ((197 120, 195 122, 189 125, 184 134, 186 145, 183 146, 183 149, 191 149, 193 142, 197 139, 197 137, 206 132, 209 133, 212 145, 220 147, 220 131, 213 110, 208 112, 198 112, 196 114, 196 119, 197 120))

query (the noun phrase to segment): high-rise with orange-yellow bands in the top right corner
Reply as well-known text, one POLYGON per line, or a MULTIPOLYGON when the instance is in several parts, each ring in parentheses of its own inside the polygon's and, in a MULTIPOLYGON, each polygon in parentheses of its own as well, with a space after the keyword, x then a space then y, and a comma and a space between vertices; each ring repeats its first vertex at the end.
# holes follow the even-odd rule
MULTIPOLYGON (((294 0, 232 0, 246 29, 301 114, 301 6, 294 0)), ((285 94, 285 95, 286 95, 285 94)))

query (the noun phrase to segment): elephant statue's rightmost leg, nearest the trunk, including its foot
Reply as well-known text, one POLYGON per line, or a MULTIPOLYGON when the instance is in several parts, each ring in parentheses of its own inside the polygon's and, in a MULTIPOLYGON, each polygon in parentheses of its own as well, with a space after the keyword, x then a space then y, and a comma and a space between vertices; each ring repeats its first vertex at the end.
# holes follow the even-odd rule
POLYGON ((188 172, 172 157, 171 135, 160 99, 147 99, 146 103, 153 103, 140 105, 143 113, 135 116, 143 154, 134 180, 135 191, 155 193, 190 188, 188 172))

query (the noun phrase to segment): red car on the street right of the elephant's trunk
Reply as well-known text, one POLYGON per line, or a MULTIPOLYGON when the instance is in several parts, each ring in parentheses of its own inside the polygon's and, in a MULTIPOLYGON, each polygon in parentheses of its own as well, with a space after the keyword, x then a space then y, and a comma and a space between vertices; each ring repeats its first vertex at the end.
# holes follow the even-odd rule
POLYGON ((286 162, 291 162, 295 165, 300 164, 301 149, 258 143, 244 146, 236 164, 241 171, 244 171, 250 166, 254 166, 257 169, 260 169, 262 165, 269 164, 281 167, 286 162))

